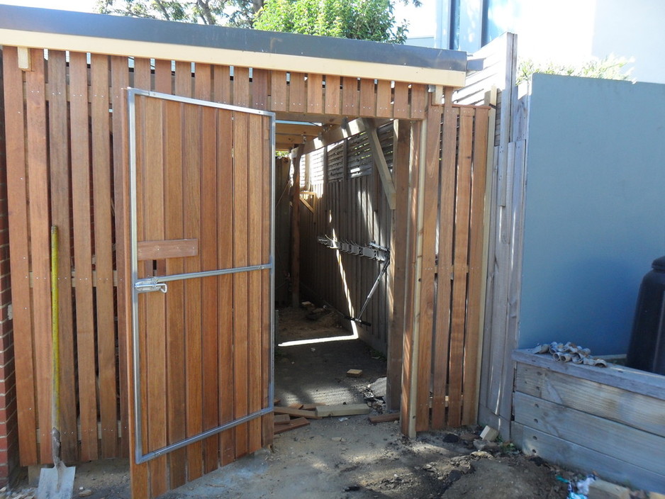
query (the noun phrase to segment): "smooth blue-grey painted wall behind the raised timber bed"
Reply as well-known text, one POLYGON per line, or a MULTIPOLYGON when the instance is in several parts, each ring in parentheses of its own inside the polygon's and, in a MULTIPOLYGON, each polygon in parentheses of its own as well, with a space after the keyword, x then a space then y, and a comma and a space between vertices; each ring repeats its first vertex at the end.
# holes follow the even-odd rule
POLYGON ((533 77, 520 348, 620 354, 665 255, 665 85, 533 77))

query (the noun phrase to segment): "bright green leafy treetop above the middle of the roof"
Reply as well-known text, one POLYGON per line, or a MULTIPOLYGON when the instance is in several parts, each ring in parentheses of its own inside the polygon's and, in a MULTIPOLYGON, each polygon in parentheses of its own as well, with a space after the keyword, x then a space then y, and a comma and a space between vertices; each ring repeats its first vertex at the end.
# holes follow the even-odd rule
POLYGON ((407 31, 393 0, 266 0, 254 27, 389 43, 404 43, 407 31))

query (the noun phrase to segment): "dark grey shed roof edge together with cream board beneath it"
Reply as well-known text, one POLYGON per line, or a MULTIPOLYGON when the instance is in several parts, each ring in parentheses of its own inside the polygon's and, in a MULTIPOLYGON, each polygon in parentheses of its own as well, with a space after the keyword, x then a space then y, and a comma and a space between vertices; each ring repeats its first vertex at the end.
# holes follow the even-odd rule
POLYGON ((464 86, 466 52, 0 5, 0 45, 464 86))

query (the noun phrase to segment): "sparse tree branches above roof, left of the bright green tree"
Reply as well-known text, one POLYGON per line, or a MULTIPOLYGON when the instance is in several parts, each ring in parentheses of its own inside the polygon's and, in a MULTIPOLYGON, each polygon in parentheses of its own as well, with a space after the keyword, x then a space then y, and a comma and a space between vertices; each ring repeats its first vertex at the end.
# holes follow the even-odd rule
POLYGON ((250 28, 262 0, 97 0, 101 13, 250 28))

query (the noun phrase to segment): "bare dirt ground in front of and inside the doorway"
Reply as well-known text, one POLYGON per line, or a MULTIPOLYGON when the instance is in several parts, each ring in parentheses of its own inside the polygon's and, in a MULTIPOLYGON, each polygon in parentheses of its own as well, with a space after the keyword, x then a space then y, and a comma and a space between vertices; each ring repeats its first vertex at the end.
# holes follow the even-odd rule
MULTIPOLYGON (((280 313, 278 342, 348 335, 333 313, 317 320, 307 310, 280 313)), ((290 403, 369 403, 384 410, 385 359, 358 340, 277 347, 276 398, 290 403), (359 378, 345 376, 362 369, 359 378), (373 388, 369 388, 373 385, 373 388), (376 392, 376 393, 375 393, 376 392)), ((367 415, 327 417, 275 436, 272 449, 209 473, 163 495, 164 499, 455 499, 566 498, 565 471, 530 459, 509 443, 477 450, 480 427, 402 437, 397 422, 372 425, 367 415)), ((79 464, 74 497, 129 499, 126 460, 79 464)), ((30 498, 25 481, 5 497, 30 498), (20 496, 18 494, 24 494, 20 496)), ((0 498, 3 495, 0 493, 0 498)))

